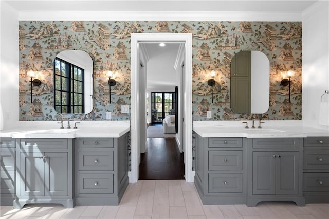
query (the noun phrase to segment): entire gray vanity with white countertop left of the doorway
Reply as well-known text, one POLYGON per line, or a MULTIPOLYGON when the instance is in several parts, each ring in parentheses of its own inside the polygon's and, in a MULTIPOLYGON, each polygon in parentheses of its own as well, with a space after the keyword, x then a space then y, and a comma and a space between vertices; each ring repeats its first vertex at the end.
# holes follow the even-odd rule
POLYGON ((2 136, 1 205, 118 205, 129 184, 129 130, 127 123, 2 136))

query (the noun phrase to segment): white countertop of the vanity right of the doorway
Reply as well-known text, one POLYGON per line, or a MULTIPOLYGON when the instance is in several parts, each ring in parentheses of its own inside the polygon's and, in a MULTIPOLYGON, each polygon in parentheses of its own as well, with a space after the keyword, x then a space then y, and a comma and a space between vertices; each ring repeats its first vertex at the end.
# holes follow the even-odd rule
POLYGON ((210 137, 245 137, 245 138, 305 138, 305 137, 329 137, 328 129, 315 129, 301 126, 300 122, 264 121, 262 128, 258 129, 259 122, 255 121, 254 129, 252 121, 194 121, 193 131, 204 138, 210 137), (248 122, 249 128, 245 128, 248 122))

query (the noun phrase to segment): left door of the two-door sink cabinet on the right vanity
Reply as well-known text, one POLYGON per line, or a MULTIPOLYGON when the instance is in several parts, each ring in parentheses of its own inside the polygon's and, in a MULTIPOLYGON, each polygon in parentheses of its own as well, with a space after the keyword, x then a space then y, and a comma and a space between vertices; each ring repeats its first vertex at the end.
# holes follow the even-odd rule
POLYGON ((252 153, 252 193, 276 193, 276 152, 252 153))

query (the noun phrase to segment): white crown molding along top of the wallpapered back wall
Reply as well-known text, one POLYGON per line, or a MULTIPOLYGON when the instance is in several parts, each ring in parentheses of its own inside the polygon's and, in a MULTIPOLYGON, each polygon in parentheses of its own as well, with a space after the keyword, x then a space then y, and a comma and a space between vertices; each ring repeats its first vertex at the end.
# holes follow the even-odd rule
POLYGON ((301 12, 19 11, 19 21, 302 21, 301 12))

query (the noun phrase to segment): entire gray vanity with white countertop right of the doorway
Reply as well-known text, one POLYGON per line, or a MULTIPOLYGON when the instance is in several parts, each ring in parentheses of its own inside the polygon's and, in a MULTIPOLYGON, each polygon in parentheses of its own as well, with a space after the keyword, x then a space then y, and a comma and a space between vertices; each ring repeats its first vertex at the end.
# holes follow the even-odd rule
POLYGON ((204 204, 329 203, 329 133, 195 124, 194 183, 204 204))

